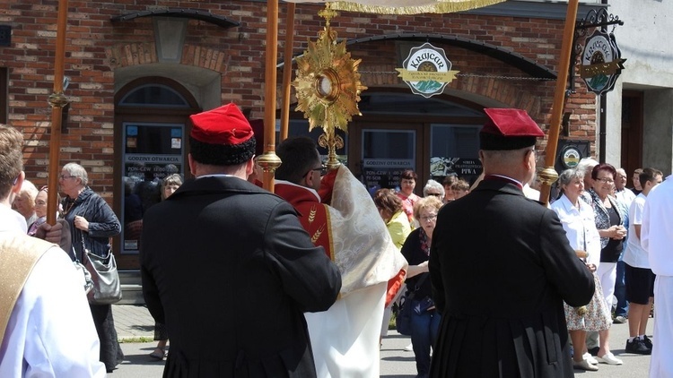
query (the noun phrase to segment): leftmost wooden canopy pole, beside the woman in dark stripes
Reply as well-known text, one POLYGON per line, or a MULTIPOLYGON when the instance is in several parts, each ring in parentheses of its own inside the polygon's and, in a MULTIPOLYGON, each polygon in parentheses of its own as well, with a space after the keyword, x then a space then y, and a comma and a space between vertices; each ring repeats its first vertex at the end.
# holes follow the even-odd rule
POLYGON ((47 202, 47 222, 50 225, 55 225, 57 221, 58 168, 61 151, 61 126, 63 107, 65 107, 68 103, 66 96, 63 94, 63 77, 66 61, 67 18, 68 2, 67 0, 59 0, 56 62, 54 64, 54 91, 48 99, 49 105, 51 105, 51 135, 49 139, 49 168, 47 182, 51 194, 48 196, 47 202))

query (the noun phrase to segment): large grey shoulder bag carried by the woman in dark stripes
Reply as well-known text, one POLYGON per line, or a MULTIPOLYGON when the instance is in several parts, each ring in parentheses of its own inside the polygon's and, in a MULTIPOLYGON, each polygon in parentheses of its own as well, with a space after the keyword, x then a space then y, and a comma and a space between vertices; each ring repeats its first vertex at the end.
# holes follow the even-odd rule
POLYGON ((86 269, 92 274, 93 288, 87 294, 89 303, 92 305, 112 305, 121 300, 121 285, 117 271, 117 261, 112 251, 101 257, 91 253, 84 244, 82 236, 82 260, 86 269))

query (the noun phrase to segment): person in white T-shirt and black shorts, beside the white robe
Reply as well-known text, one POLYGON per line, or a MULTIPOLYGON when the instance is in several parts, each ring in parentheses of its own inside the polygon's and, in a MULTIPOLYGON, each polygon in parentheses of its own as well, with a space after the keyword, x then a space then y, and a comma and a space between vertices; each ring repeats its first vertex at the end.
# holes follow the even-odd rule
POLYGON ((660 170, 644 168, 640 175, 642 193, 629 208, 629 237, 624 252, 626 299, 629 301, 629 339, 625 350, 639 355, 651 354, 651 340, 645 335, 645 329, 654 296, 654 274, 641 246, 642 208, 647 194, 660 184, 661 176, 660 170))

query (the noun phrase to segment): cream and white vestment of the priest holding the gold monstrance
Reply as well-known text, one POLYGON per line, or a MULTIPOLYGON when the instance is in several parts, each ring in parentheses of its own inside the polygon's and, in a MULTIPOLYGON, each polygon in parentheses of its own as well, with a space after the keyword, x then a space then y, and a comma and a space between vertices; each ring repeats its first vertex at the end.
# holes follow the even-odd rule
POLYGON ((389 280, 408 264, 370 194, 344 166, 338 168, 329 204, 329 240, 342 287, 328 311, 305 314, 316 371, 319 378, 379 377, 389 280))

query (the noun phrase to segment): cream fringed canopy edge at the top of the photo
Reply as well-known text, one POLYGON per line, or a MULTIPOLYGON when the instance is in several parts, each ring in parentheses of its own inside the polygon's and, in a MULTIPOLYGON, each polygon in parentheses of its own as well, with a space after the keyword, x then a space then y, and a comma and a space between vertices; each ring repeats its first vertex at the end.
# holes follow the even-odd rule
POLYGON ((379 14, 419 14, 451 13, 481 8, 503 3, 505 0, 285 0, 288 3, 326 4, 336 11, 379 13, 379 14))

